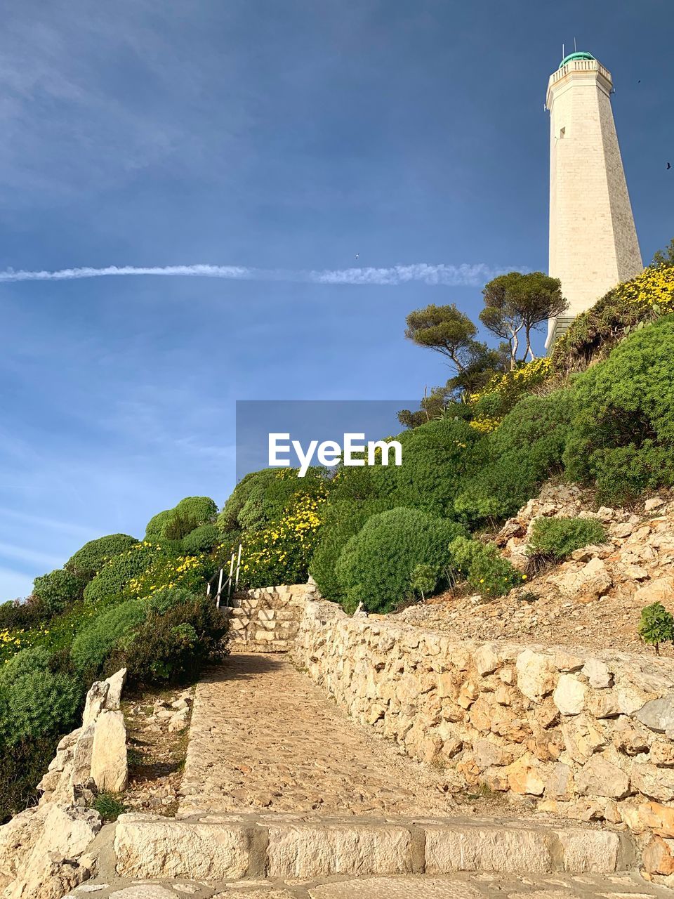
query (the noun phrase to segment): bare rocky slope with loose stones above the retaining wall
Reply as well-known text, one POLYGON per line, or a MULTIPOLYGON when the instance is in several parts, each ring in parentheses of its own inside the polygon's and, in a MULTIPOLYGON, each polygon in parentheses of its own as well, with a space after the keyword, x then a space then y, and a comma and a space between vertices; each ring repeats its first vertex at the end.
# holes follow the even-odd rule
MULTIPOLYGON (((643 606, 652 602, 674 610, 674 495, 661 491, 633 509, 597 509, 590 491, 546 484, 492 535, 501 555, 523 573, 530 569, 528 540, 541 516, 597 519, 607 540, 575 550, 492 601, 448 591, 400 617, 475 639, 527 636, 543 645, 653 654, 636 626, 643 606)), ((661 653, 674 655, 674 649, 665 645, 661 653)))

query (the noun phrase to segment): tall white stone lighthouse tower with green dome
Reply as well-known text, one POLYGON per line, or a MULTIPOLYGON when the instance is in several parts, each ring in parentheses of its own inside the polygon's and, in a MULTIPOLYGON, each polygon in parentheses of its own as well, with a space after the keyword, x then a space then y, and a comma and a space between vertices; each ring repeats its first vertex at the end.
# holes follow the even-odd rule
POLYGON ((616 124, 611 73, 590 53, 563 58, 547 85, 550 111, 549 273, 569 308, 545 346, 618 282, 643 271, 616 124))

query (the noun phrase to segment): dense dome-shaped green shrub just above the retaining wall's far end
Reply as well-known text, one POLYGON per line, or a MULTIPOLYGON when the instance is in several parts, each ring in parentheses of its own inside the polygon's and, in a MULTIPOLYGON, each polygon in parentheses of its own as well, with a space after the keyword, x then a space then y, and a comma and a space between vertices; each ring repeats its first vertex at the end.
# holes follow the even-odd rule
POLYGON ((337 561, 345 608, 353 610, 362 601, 368 611, 392 610, 410 591, 416 566, 440 570, 448 562, 449 542, 462 533, 456 522, 416 509, 396 508, 371 516, 337 561))

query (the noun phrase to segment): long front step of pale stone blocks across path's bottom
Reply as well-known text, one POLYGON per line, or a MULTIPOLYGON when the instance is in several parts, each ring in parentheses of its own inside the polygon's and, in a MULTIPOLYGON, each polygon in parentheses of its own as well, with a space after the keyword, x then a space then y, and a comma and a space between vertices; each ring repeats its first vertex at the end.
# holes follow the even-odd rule
POLYGON ((635 850, 626 833, 533 822, 123 814, 114 859, 119 877, 306 881, 459 871, 610 874, 632 868, 635 850))

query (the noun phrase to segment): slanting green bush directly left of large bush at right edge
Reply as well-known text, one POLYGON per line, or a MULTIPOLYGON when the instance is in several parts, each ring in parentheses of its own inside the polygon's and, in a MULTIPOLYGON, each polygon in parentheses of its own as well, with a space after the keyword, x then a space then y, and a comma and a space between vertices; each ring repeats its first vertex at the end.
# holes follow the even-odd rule
POLYGON ((518 512, 560 471, 572 408, 570 390, 520 400, 484 438, 481 467, 457 485, 457 518, 478 526, 518 512))

